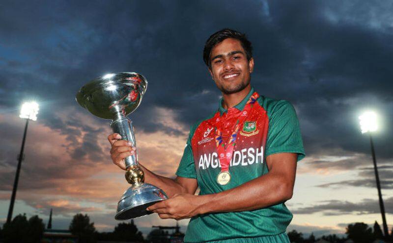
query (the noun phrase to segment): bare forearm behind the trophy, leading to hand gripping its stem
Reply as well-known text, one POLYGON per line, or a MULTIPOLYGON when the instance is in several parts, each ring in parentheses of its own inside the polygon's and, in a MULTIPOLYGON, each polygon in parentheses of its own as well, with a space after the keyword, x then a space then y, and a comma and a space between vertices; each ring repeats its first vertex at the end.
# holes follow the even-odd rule
POLYGON ((144 182, 162 189, 168 197, 172 197, 174 194, 187 193, 186 189, 175 179, 155 174, 142 165, 140 165, 140 167, 144 172, 144 182))

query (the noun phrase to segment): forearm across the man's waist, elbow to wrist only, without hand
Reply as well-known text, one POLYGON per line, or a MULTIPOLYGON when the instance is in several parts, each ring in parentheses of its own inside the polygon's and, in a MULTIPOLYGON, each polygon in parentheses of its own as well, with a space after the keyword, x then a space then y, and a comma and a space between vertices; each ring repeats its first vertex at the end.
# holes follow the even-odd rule
POLYGON ((292 197, 293 184, 280 174, 267 173, 239 187, 197 197, 198 213, 251 211, 281 203, 292 197))

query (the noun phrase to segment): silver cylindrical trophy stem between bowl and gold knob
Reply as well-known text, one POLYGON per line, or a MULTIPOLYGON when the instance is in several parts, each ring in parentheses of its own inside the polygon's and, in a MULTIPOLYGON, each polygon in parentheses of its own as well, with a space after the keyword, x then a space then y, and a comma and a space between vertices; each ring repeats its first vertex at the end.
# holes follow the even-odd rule
MULTIPOLYGON (((117 120, 112 120, 111 127, 114 133, 118 133, 122 140, 127 140, 133 144, 134 147, 137 146, 135 142, 134 127, 132 126, 132 121, 125 116, 117 120)), ((138 155, 137 151, 133 155, 130 155, 124 159, 126 169, 132 166, 138 166, 138 155)))

